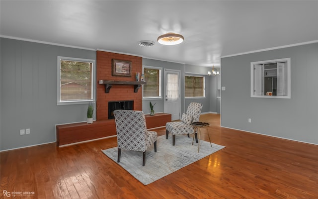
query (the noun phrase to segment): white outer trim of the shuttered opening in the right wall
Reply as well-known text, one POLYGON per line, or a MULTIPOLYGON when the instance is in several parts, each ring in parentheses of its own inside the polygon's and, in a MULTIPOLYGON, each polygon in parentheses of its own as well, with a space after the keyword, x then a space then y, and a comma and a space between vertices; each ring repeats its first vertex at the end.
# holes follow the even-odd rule
MULTIPOLYGON (((264 76, 263 76, 264 77, 264 76)), ((290 99, 291 98, 291 62, 290 58, 282 58, 282 59, 273 59, 273 60, 265 60, 265 61, 257 61, 250 63, 250 97, 251 98, 272 98, 272 99, 290 99), (286 62, 287 66, 287 74, 284 75, 284 78, 287 77, 287 96, 265 96, 265 95, 254 95, 254 65, 273 63, 273 62, 286 62)))

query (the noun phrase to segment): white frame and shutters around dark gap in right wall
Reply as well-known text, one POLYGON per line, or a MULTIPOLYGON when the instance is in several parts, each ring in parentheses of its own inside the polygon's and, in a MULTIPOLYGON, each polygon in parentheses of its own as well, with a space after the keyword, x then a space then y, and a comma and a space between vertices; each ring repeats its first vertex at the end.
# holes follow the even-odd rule
MULTIPOLYGON (((277 65, 278 67, 278 65, 277 65)), ((280 67, 281 68, 281 67, 280 67)), ((257 78, 256 78, 257 79, 257 78)), ((278 85, 277 85, 278 86, 278 85)), ((274 60, 265 60, 265 61, 257 61, 257 62, 251 62, 250 63, 250 97, 251 98, 279 98, 279 99, 290 99, 291 98, 291 62, 290 58, 283 58, 283 59, 274 59, 274 60), (284 96, 266 96, 264 95, 263 91, 256 91, 259 90, 257 87, 263 88, 264 84, 264 67, 257 69, 254 69, 254 66, 256 65, 264 65, 267 63, 274 63, 277 62, 282 63, 286 62, 286 67, 283 67, 283 76, 282 81, 284 82, 284 96), (262 81, 261 82, 255 82, 255 71, 259 74, 262 81), (287 78, 287 81, 285 81, 287 78), (256 94, 254 93, 256 91, 256 94)))

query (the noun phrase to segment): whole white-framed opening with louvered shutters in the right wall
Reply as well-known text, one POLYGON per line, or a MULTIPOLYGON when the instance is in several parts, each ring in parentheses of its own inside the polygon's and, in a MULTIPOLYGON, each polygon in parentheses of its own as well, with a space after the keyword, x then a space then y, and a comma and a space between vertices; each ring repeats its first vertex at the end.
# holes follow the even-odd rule
POLYGON ((290 58, 251 62, 251 98, 290 98, 290 58))

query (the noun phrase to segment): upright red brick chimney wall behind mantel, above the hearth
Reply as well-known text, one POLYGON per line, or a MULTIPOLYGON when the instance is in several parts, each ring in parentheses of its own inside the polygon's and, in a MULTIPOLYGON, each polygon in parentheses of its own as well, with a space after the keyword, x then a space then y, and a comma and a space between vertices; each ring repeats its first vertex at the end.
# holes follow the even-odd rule
POLYGON ((136 81, 136 73, 142 73, 142 57, 97 51, 97 120, 108 119, 108 101, 134 100, 134 110, 142 110, 142 90, 134 93, 134 85, 112 85, 109 93, 105 93, 105 86, 99 85, 99 80, 136 81), (111 75, 111 60, 123 60, 132 62, 132 76, 121 77, 111 75))

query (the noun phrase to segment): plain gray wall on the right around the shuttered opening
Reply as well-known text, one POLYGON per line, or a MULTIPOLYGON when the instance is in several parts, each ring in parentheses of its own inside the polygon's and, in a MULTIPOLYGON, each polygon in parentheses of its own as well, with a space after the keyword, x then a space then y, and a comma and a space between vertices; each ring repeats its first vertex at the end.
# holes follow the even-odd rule
POLYGON ((225 57, 221 65, 222 126, 318 144, 318 43, 225 57), (250 98, 250 62, 288 57, 291 99, 250 98))

